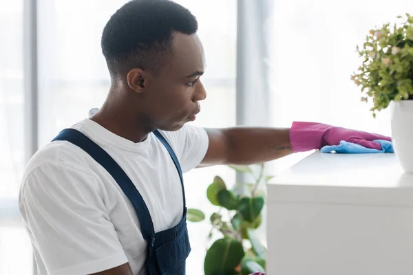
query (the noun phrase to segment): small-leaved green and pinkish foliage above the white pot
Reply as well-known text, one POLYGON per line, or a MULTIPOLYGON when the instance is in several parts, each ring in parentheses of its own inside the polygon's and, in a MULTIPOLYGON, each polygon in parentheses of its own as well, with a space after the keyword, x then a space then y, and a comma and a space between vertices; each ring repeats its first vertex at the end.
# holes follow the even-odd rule
MULTIPOLYGON (((398 17, 403 19, 403 17, 398 17)), ((392 100, 413 98, 413 17, 399 25, 385 23, 370 30, 363 47, 357 45, 363 63, 351 79, 361 87, 362 101, 372 98, 373 115, 388 107, 392 100)))

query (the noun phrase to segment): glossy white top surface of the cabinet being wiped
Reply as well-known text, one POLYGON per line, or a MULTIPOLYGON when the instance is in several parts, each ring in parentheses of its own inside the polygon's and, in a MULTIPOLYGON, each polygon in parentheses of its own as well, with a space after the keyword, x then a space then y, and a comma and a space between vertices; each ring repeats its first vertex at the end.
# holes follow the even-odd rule
POLYGON ((269 184, 412 188, 413 174, 404 173, 393 153, 315 153, 273 178, 269 184))

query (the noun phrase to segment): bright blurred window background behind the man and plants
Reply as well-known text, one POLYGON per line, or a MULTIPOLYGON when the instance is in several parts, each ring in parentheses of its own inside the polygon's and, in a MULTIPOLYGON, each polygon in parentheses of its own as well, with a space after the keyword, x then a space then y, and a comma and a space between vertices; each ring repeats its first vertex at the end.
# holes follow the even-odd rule
MULTIPOLYGON (((36 274, 17 195, 25 163, 61 129, 100 107, 109 74, 103 26, 124 0, 0 0, 0 275, 36 274)), ((393 0, 176 0, 198 18, 208 97, 195 124, 290 126, 316 121, 390 135, 388 111, 372 118, 350 74, 375 25, 413 10, 393 0)), ((268 173, 299 161, 291 155, 268 173)), ((211 213, 206 190, 225 166, 185 175, 187 203, 211 213), (202 190, 202 192, 200 192, 202 190)), ((209 217, 209 216, 208 216, 209 217)), ((202 274, 207 223, 189 223, 188 274, 202 274)), ((265 218, 260 236, 265 240, 265 218)))

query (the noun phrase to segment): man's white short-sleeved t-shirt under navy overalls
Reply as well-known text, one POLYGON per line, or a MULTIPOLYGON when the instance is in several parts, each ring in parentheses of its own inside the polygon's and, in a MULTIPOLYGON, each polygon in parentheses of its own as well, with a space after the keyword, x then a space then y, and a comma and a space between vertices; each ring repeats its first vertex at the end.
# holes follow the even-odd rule
MULTIPOLYGON (((155 232, 182 219, 180 178, 169 153, 150 133, 134 143, 85 119, 72 128, 113 157, 134 182, 151 214, 155 232)), ((186 124, 163 132, 182 172, 202 161, 208 136, 186 124)), ((34 248, 40 275, 91 274, 129 261, 133 274, 145 274, 147 243, 129 199, 107 171, 81 148, 55 141, 30 160, 19 207, 34 248)))

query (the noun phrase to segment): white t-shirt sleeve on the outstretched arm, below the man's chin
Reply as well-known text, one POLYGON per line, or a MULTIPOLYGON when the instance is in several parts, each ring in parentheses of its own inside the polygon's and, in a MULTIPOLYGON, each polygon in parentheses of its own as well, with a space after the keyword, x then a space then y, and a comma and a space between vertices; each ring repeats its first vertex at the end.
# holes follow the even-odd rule
POLYGON ((182 173, 195 168, 202 162, 208 150, 207 131, 200 126, 185 124, 175 132, 165 132, 180 161, 182 173))

